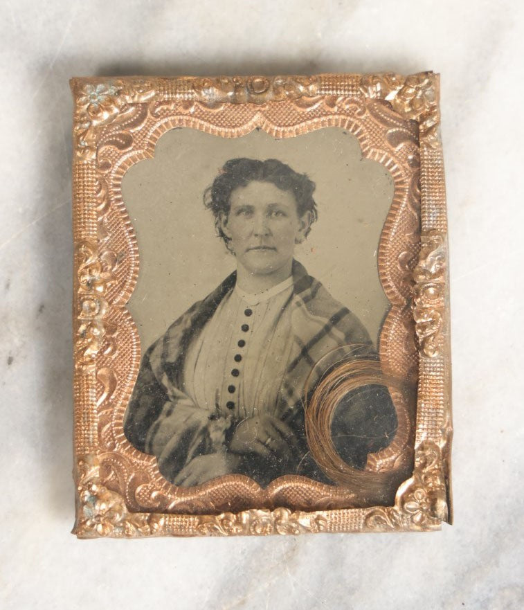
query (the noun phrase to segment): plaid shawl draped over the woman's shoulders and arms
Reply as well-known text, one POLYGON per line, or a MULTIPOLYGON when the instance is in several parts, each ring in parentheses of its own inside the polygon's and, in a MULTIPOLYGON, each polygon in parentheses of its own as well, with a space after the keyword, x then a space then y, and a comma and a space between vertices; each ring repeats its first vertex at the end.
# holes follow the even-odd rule
MULTIPOLYGON (((334 300, 296 260, 293 260, 292 273, 293 346, 276 412, 300 439, 300 469, 297 464, 281 464, 278 472, 273 468, 268 479, 257 472, 256 460, 244 460, 241 474, 262 484, 281 474, 303 474, 325 481, 309 457, 305 442, 305 386, 314 391, 320 377, 342 357, 375 355, 368 333, 347 307, 334 300)), ((193 457, 227 449, 228 430, 233 429, 235 422, 231 417, 210 418, 208 410, 192 403, 183 391, 183 369, 190 343, 199 336, 224 296, 233 290, 235 282, 236 271, 177 319, 145 352, 141 363, 126 412, 125 434, 134 447, 156 455, 161 472, 170 481, 193 457)), ((368 451, 378 448, 369 447, 368 443, 362 454, 362 447, 355 445, 354 464, 363 467, 368 451)), ((351 451, 348 455, 352 457, 351 451)))

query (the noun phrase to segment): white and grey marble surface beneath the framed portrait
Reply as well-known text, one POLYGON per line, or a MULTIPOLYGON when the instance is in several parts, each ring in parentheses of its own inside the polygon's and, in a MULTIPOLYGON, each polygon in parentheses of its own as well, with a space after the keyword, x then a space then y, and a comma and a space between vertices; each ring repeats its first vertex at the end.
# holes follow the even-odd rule
POLYGON ((0 4, 0 605, 524 607, 524 5, 0 4), (73 75, 442 73, 455 525, 417 535, 77 541, 71 404, 73 75))

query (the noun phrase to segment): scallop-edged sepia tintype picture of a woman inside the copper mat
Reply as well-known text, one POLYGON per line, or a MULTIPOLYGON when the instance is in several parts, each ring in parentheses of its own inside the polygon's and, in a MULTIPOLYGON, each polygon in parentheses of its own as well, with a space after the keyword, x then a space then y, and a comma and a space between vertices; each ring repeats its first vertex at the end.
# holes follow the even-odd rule
MULTIPOLYGON (((286 140, 174 129, 125 174, 144 355, 124 429, 168 481, 336 483, 311 454, 305 407, 334 368, 377 361, 392 192, 340 127, 286 140)), ((388 389, 368 385, 336 404, 331 438, 362 470, 397 425, 388 389)))

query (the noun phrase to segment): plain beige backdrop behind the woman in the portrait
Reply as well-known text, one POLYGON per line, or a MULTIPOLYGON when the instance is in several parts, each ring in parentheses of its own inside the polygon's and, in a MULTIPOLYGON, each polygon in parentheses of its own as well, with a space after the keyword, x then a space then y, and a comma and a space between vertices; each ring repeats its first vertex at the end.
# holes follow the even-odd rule
POLYGON ((339 127, 278 140, 262 131, 221 138, 184 127, 164 134, 154 159, 133 165, 122 183, 140 253, 129 310, 143 350, 235 269, 202 196, 224 162, 238 156, 279 159, 316 183, 318 220, 296 246, 296 258, 359 317, 376 343, 388 310, 377 271, 393 195, 388 170, 362 159, 359 142, 339 127))

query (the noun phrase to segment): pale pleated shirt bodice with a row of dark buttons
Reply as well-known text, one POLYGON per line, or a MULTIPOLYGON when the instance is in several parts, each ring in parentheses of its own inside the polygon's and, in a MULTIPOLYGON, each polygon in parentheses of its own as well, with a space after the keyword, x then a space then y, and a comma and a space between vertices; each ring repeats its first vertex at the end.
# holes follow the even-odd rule
POLYGON ((276 414, 289 363, 293 278, 260 294, 228 294, 192 342, 184 390, 210 413, 236 419, 276 414))

